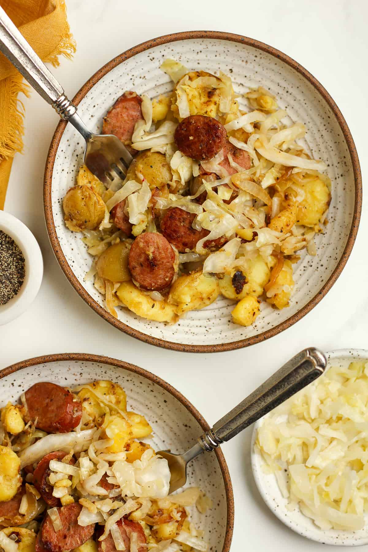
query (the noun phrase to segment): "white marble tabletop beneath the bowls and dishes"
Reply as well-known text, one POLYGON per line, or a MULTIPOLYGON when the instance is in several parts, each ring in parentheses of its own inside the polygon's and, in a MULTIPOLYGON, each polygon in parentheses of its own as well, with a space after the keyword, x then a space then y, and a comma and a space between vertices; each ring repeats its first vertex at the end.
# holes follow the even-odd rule
MULTIPOLYGON (((67 4, 77 53, 72 62, 62 60, 54 72, 70 97, 106 61, 154 36, 189 29, 252 36, 294 57, 327 88, 350 126, 364 180, 368 172, 365 0, 263 0, 251 4, 215 0, 212 5, 195 0, 141 0, 127 6, 119 0, 68 0, 67 4)), ((24 155, 14 160, 6 210, 34 232, 44 255, 45 274, 30 310, 1 328, 0 368, 46 353, 106 354, 157 373, 214 423, 302 348, 368 348, 366 201, 358 239, 338 282, 310 314, 279 336, 239 351, 195 355, 154 348, 115 330, 79 298, 51 251, 42 182, 57 115, 36 93, 24 99, 24 104, 24 155)), ((236 507, 231 550, 294 552, 297 548, 307 552, 332 548, 294 534, 264 505, 250 469, 251 431, 247 429, 223 446, 236 507)))

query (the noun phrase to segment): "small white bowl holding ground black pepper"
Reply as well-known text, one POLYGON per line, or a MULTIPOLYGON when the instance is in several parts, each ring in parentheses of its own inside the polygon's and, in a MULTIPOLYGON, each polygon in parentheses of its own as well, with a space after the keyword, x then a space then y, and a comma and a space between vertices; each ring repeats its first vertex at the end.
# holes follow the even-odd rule
POLYGON ((15 216, 0 211, 0 230, 14 240, 25 259, 25 277, 18 294, 5 305, 0 305, 2 326, 23 314, 34 301, 40 289, 44 263, 40 246, 33 233, 15 216))

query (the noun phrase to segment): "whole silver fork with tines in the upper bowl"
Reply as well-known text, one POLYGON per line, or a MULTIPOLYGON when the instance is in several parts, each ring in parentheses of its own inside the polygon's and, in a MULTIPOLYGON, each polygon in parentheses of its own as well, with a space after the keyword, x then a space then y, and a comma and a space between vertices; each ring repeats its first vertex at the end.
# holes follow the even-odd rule
POLYGON ((107 179, 124 178, 133 160, 127 148, 112 134, 98 135, 87 129, 76 106, 1 7, 0 51, 56 113, 81 133, 86 140, 84 163, 89 170, 104 183, 108 183, 107 179))

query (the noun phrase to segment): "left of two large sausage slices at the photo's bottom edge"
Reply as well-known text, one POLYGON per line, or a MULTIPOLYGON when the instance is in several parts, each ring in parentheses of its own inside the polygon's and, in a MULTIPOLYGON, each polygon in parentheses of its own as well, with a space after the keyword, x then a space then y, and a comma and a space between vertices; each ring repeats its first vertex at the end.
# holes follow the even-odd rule
POLYGON ((55 531, 50 516, 46 514, 41 526, 41 540, 48 552, 63 552, 63 550, 72 550, 81 546, 94 533, 95 524, 82 527, 78 525, 78 516, 81 513, 82 506, 74 502, 67 506, 57 508, 62 524, 62 529, 55 531))

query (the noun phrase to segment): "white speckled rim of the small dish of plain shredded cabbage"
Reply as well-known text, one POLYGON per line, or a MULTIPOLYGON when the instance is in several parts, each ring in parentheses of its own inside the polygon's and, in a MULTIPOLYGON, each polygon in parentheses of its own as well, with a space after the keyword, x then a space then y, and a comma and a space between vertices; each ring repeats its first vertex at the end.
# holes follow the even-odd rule
MULTIPOLYGON (((351 358, 351 361, 353 361, 356 358, 361 358, 361 360, 367 360, 368 359, 368 349, 333 349, 332 351, 329 351, 326 353, 327 357, 327 370, 333 365, 334 359, 337 358, 351 358)), ((326 370, 326 371, 327 371, 326 370)), ((325 371, 325 374, 326 374, 325 371)), ((266 414, 260 420, 255 422, 253 426, 253 432, 252 432, 252 438, 250 439, 250 466, 252 467, 252 473, 253 478, 255 481, 255 485, 257 485, 257 489, 259 491, 260 496, 262 497, 264 503, 270 511, 280 519, 282 523, 286 525, 286 527, 289 527, 289 529, 293 530, 295 533, 298 533, 298 535, 301 535, 302 537, 313 540, 314 542, 326 544, 327 546, 367 546, 368 544, 368 537, 365 538, 365 540, 362 539, 362 542, 359 542, 359 540, 354 540, 354 531, 346 533, 341 531, 342 534, 346 534, 346 540, 343 542, 334 542, 333 537, 330 537, 329 535, 324 535, 323 529, 318 529, 317 526, 312 526, 312 528, 306 528, 301 527, 290 515, 286 516, 284 514, 284 511, 279 509, 278 507, 274 506, 274 498, 268 494, 267 490, 267 484, 265 482, 264 477, 262 477, 262 466, 264 465, 264 462, 262 459, 260 459, 259 455, 255 453, 254 451, 254 443, 257 440, 257 432, 258 429, 262 426, 264 423, 264 420, 267 416, 269 416, 270 413, 266 414)))

